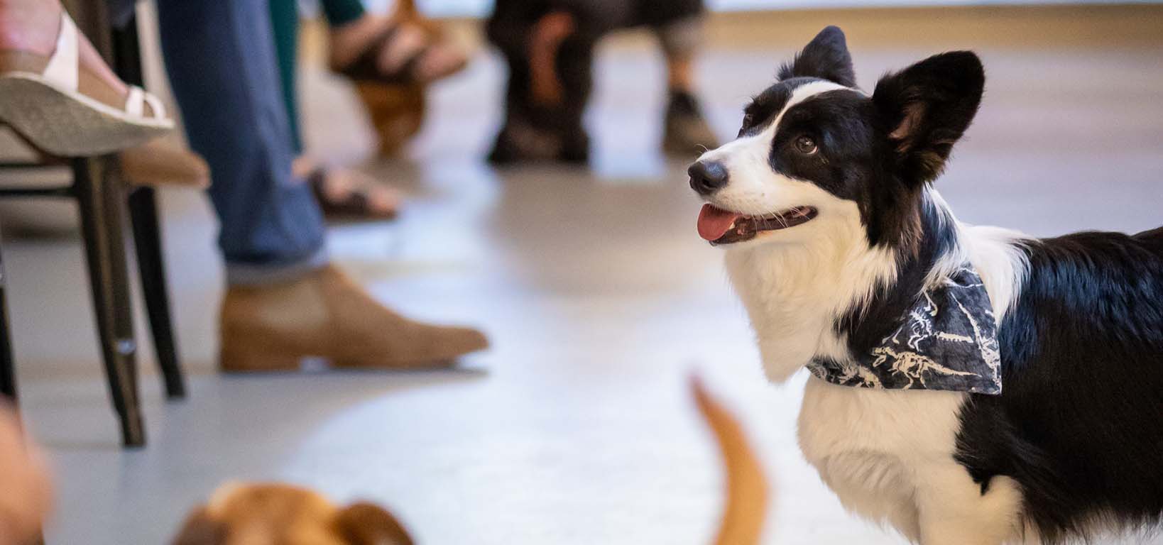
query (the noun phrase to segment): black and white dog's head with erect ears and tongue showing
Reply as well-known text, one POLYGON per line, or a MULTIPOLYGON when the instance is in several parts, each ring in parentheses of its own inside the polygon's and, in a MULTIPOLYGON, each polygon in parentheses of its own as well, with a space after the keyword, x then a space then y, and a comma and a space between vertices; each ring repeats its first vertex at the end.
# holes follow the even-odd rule
POLYGON ((699 235, 748 248, 844 223, 872 246, 906 242, 984 85, 977 56, 955 51, 883 77, 870 96, 856 88, 844 34, 825 28, 747 106, 739 137, 691 165, 707 202, 699 235))

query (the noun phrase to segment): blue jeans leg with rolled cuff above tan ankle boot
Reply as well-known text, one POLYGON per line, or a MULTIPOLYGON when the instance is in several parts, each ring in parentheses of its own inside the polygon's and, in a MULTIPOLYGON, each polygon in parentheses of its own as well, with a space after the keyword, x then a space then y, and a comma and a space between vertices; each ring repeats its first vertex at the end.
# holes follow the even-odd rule
POLYGON ((292 278, 327 260, 319 205, 291 175, 291 126, 266 2, 157 2, 186 137, 211 166, 230 282, 292 278))

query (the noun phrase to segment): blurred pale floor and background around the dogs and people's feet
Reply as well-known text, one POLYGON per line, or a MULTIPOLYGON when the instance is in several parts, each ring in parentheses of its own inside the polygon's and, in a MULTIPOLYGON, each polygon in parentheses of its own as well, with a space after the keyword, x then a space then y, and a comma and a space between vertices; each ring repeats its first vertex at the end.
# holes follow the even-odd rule
MULTIPOLYGON (((387 0, 368 5, 392 9, 387 0)), ((847 515, 800 457, 805 377, 785 386, 763 379, 720 252, 694 230, 699 202, 685 168, 697 155, 658 149, 666 72, 655 37, 626 30, 600 42, 585 114, 588 164, 493 167, 484 157, 502 122, 506 66, 483 35, 491 2, 418 5, 470 64, 427 88, 419 130, 386 150, 368 105, 328 71, 326 29, 302 5, 306 148, 406 195, 395 221, 329 229, 340 265, 408 315, 479 324, 492 350, 451 371, 220 377, 215 220, 201 193, 163 189, 191 393, 163 401, 138 309, 150 443, 122 451, 76 211, 0 202, 24 418, 57 471, 49 542, 164 543, 221 481, 274 479, 391 505, 422 543, 706 543, 721 469, 685 387, 698 372, 766 462, 776 502, 765 543, 902 543, 847 515)), ((721 141, 779 63, 827 24, 846 31, 864 89, 928 55, 972 49, 986 66, 985 99, 937 181, 962 221, 1039 236, 1163 223, 1161 5, 708 7, 695 83, 721 141)), ((140 9, 147 81, 165 94, 151 6, 140 9)), ((10 141, 0 150, 23 153, 10 141)))

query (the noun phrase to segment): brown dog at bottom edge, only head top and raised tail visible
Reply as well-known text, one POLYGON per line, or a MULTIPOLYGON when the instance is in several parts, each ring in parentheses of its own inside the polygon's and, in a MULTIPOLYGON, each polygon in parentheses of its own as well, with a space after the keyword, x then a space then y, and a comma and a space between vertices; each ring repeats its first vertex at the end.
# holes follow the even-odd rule
MULTIPOLYGON (((715 544, 754 545, 768 507, 763 469, 739 422, 702 386, 691 389, 727 467, 727 499, 715 544)), ((411 545, 404 526, 370 503, 337 508, 287 485, 227 485, 186 519, 174 545, 411 545)))

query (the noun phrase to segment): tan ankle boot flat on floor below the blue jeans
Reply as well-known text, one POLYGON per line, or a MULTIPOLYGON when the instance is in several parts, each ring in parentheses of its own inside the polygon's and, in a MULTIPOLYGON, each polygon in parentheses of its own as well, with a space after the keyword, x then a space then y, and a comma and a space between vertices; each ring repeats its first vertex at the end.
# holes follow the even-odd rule
POLYGON ((221 313, 224 372, 295 371, 304 357, 338 368, 450 366, 488 346, 475 329, 405 318, 368 295, 335 266, 272 286, 234 286, 221 313))

